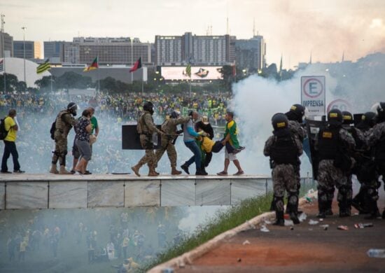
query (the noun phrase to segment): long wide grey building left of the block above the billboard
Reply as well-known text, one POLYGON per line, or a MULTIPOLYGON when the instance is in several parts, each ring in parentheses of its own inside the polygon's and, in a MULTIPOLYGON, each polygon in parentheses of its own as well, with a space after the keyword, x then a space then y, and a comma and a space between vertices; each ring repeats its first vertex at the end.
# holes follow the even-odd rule
POLYGON ((151 64, 151 43, 130 37, 76 37, 64 43, 64 63, 90 64, 95 57, 99 64, 132 64, 139 57, 142 63, 151 64))

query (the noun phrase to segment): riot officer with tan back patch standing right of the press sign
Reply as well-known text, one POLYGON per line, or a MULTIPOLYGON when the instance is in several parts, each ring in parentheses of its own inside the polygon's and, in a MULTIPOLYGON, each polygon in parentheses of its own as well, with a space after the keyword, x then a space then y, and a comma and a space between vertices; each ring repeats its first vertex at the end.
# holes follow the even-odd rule
POLYGON ((337 201, 339 217, 349 216, 350 195, 347 174, 351 171, 349 151, 356 146, 353 137, 342 128, 342 113, 332 109, 328 113, 328 125, 318 132, 318 218, 332 214, 332 200, 335 187, 338 189, 337 201))

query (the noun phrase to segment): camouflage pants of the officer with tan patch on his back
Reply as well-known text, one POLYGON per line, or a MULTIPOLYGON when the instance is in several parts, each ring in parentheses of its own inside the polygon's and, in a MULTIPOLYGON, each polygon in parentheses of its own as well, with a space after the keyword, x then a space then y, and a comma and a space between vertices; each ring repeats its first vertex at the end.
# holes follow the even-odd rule
POLYGON ((352 189, 348 176, 334 167, 333 160, 321 160, 318 165, 318 209, 325 211, 331 207, 335 188, 338 189, 339 205, 347 206, 351 200, 352 189))

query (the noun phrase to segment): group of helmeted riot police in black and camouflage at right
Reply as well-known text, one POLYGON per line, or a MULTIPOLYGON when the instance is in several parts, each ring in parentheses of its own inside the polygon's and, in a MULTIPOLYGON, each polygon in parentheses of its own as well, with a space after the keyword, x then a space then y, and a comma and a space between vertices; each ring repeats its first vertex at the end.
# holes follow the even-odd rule
MULTIPOLYGON (((302 119, 304 106, 295 104, 288 113, 272 117, 273 135, 264 148, 272 167, 276 213, 275 225, 284 225, 283 198, 288 196, 286 212, 295 224, 298 219, 298 193, 300 190, 300 155, 302 142, 307 137, 302 119)), ((367 112, 360 123, 353 125, 349 112, 332 109, 328 122, 314 138, 313 168, 318 169, 318 218, 331 216, 332 200, 337 188, 339 217, 351 216, 351 207, 365 218, 379 218, 377 207, 379 177, 385 179, 385 102, 374 105, 375 112, 367 112), (360 190, 353 198, 352 175, 360 182, 360 190)), ((384 185, 385 187, 385 185, 384 185)), ((382 213, 385 218, 385 209, 382 213)))

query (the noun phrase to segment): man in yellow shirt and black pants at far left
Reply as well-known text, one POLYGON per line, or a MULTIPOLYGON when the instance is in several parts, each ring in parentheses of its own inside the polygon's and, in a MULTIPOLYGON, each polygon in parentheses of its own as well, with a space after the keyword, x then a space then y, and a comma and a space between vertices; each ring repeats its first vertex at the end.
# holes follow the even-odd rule
POLYGON ((16 110, 10 109, 8 112, 8 116, 4 119, 4 127, 8 132, 7 137, 4 139, 4 153, 3 160, 1 160, 1 174, 11 174, 8 172, 7 161, 10 155, 12 155, 13 159, 13 173, 14 174, 22 174, 24 171, 20 170, 19 164, 19 154, 16 149, 16 137, 17 132, 19 130, 18 124, 15 121, 16 119, 16 110))

